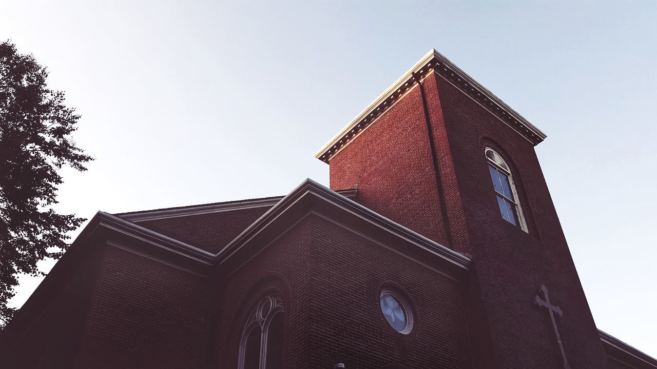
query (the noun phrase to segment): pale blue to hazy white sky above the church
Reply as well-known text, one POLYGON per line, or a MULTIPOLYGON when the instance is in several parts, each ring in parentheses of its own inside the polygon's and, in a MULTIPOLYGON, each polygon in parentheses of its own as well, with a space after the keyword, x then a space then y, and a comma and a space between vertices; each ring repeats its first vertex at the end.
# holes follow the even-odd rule
POLYGON ((0 2, 82 116, 57 209, 87 218, 328 185, 315 151, 435 47, 547 133, 597 326, 653 357, 656 35, 655 1, 0 2))

